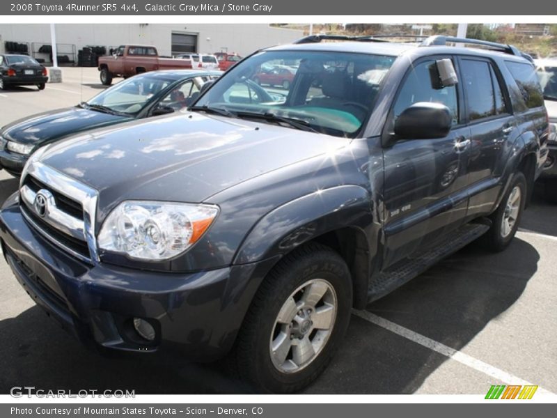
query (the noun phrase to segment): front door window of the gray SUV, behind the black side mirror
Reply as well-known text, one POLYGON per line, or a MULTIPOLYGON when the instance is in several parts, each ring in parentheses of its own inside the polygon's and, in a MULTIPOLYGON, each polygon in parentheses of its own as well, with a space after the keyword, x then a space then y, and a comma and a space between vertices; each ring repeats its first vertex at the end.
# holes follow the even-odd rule
POLYGON ((453 125, 458 123, 458 98, 456 86, 434 88, 432 71, 435 61, 425 61, 416 65, 405 79, 394 106, 395 118, 402 111, 417 102, 435 102, 444 104, 453 115, 453 125))

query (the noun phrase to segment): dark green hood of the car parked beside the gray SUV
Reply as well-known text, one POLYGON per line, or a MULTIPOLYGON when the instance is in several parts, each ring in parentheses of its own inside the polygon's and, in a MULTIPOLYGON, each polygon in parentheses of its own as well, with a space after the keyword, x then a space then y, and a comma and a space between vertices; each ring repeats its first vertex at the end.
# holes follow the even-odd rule
POLYGON ((3 127, 2 134, 21 144, 39 145, 76 132, 129 119, 127 116, 69 107, 19 119, 3 127))

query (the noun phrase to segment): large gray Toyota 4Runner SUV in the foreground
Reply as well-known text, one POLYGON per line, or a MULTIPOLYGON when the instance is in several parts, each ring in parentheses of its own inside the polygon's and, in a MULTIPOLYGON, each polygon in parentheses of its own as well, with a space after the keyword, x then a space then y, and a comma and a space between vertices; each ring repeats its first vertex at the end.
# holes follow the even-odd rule
POLYGON ((353 308, 473 240, 510 245, 549 127, 533 64, 452 37, 327 39, 244 59, 187 114, 34 153, 0 211, 33 300, 103 350, 228 355, 256 390, 292 392, 353 308), (274 98, 252 79, 279 60, 299 67, 274 98))

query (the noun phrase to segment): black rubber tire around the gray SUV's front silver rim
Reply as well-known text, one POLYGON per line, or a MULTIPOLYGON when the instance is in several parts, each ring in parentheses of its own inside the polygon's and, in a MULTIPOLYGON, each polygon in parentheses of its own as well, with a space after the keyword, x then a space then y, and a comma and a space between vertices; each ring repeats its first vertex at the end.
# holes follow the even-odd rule
MULTIPOLYGON (((315 311, 320 309, 315 306, 315 311)), ((292 251, 269 272, 253 298, 233 352, 230 353, 233 371, 256 392, 290 393, 305 387, 324 371, 342 343, 351 308, 352 280, 343 258, 329 247, 315 243, 292 251), (336 297, 336 317, 328 329, 328 336, 323 339, 322 348, 307 364, 300 367, 299 371, 281 371, 273 363, 270 348, 273 335, 277 332, 278 313, 293 292, 317 279, 327 283, 329 289, 334 289, 331 294, 336 297)), ((311 325, 313 327, 313 323, 311 325)), ((313 332, 317 331, 306 329, 305 332, 311 338, 313 332)), ((293 348, 288 350, 289 355, 293 355, 293 348)))

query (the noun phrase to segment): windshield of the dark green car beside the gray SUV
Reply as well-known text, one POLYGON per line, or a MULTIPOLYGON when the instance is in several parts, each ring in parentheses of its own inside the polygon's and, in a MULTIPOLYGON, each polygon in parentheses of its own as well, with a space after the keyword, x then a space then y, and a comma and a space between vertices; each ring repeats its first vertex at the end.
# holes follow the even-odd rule
POLYGON ((166 75, 148 73, 130 77, 89 100, 90 106, 107 107, 122 114, 137 114, 150 99, 175 82, 166 75))

